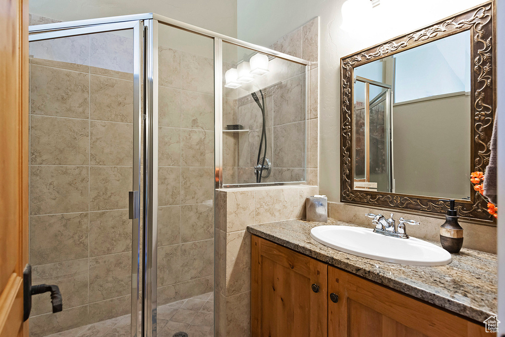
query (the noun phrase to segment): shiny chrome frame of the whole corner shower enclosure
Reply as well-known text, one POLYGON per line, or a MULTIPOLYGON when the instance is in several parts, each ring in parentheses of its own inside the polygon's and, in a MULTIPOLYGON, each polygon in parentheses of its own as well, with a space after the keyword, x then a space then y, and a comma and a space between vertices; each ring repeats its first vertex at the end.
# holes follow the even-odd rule
MULTIPOLYGON (((156 337, 157 335, 157 251, 158 251, 158 26, 164 24, 190 33, 206 36, 214 40, 214 114, 215 114, 215 226, 219 228, 219 200, 218 190, 226 187, 240 187, 240 185, 223 185, 223 42, 261 52, 271 57, 280 58, 306 66, 306 111, 309 104, 309 70, 311 63, 276 50, 241 41, 213 31, 173 20, 153 13, 125 15, 108 18, 59 22, 30 26, 29 41, 53 39, 75 35, 85 35, 100 32, 111 32, 133 29, 134 32, 134 127, 133 127, 133 187, 130 193, 130 215, 138 215, 140 209, 140 179, 143 178, 142 226, 139 216, 132 221, 132 301, 131 301, 131 337, 137 336, 139 325, 142 337, 156 337), (141 101, 141 79, 143 81, 143 104, 141 101), (142 121, 144 122, 142 125, 142 121), (140 127, 143 127, 143 139, 140 139, 140 127), (143 147, 143 167, 140 153, 143 147), (142 168, 142 172, 141 172, 142 168), (141 176, 143 174, 143 177, 141 176), (135 197, 137 193, 138 197, 135 197), (140 235, 142 228, 142 235, 140 235), (140 256, 140 238, 144 249, 140 256), (140 284, 139 267, 142 263, 140 284), (139 286, 142 288, 141 322, 138 322, 139 286)), ((306 120, 308 129, 308 120, 306 120)), ((307 153, 307 140, 306 140, 307 153)), ((247 184, 247 186, 294 185, 292 183, 247 184)), ((218 247, 219 236, 214 238, 218 247)), ((215 248, 216 249, 216 248, 215 248)), ((218 254, 214 256, 215 268, 219 266, 218 254)), ((214 273, 214 291, 218 284, 218 272, 214 273)), ((215 301, 217 303, 217 301, 215 301)), ((214 310, 216 323, 218 308, 214 310)), ((216 325, 217 326, 217 325, 216 325)))

